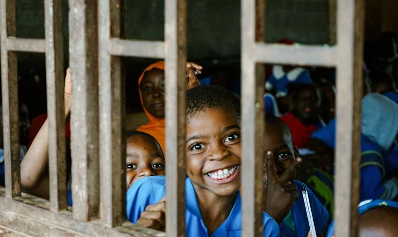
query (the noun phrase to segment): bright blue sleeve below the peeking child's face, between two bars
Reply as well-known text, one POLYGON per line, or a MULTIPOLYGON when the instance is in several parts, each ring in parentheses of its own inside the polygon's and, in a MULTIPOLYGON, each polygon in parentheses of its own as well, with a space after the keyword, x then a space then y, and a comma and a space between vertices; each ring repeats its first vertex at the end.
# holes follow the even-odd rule
POLYGON ((142 178, 131 185, 126 194, 127 220, 137 223, 147 206, 155 204, 163 198, 166 193, 165 187, 165 176, 142 178))

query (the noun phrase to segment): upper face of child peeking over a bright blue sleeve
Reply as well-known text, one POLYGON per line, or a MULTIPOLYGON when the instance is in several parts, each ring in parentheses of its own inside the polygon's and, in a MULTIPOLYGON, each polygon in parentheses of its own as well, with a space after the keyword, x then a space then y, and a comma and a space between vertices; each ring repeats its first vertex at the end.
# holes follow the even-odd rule
POLYGON ((164 175, 164 155, 154 138, 136 135, 126 139, 126 190, 137 180, 164 175))

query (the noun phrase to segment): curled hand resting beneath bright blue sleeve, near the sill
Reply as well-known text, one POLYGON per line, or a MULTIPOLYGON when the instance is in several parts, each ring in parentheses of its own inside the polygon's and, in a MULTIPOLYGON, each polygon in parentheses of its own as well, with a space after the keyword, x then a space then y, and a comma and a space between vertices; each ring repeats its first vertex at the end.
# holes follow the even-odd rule
POLYGON ((158 203, 149 205, 145 208, 145 211, 141 213, 137 224, 151 229, 164 231, 166 226, 165 215, 166 197, 164 196, 158 203))

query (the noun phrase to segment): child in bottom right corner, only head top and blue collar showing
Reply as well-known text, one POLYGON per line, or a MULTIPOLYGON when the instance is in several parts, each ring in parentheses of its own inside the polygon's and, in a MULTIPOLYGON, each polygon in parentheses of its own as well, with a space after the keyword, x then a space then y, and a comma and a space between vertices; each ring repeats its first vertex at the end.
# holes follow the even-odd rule
MULTIPOLYGON (((390 200, 366 200, 358 205, 358 236, 396 236, 398 233, 398 203, 390 200)), ((335 223, 327 230, 327 237, 335 236, 335 223)))

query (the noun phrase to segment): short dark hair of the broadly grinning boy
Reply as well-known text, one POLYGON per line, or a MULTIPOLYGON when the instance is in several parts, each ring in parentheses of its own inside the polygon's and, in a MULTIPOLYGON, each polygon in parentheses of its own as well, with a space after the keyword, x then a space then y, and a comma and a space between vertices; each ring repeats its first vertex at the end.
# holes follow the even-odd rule
POLYGON ((241 122, 241 101, 232 92, 219 86, 198 86, 187 91, 187 121, 197 112, 207 108, 221 108, 241 122))

